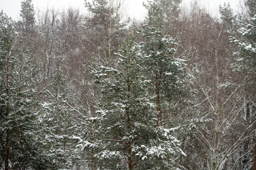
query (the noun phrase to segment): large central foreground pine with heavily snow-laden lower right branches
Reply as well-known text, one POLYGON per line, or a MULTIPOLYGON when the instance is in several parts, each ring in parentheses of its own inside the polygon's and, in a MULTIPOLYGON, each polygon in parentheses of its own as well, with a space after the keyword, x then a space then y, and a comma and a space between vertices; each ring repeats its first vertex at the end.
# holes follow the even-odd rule
POLYGON ((184 153, 175 130, 156 128, 156 109, 147 91, 150 80, 141 74, 140 53, 129 40, 120 48, 117 69, 96 66, 92 73, 103 99, 93 121, 93 140, 81 144, 101 169, 169 170, 172 156, 184 153))

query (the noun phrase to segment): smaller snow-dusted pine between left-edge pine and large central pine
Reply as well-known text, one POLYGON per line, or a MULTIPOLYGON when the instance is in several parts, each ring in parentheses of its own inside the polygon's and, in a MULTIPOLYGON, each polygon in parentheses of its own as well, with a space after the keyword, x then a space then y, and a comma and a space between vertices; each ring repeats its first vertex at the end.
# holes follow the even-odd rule
POLYGON ((40 103, 39 134, 47 157, 47 166, 52 170, 71 170, 74 161, 73 135, 76 125, 68 105, 67 87, 60 73, 52 81, 52 90, 45 91, 40 103))

